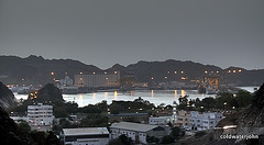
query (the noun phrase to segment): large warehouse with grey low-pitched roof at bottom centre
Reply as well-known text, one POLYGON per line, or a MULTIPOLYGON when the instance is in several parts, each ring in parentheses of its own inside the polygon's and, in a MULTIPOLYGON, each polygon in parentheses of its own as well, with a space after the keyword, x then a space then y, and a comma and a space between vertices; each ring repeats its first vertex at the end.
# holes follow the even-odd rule
POLYGON ((110 132, 111 140, 118 138, 120 135, 124 134, 131 137, 135 143, 143 144, 147 144, 146 135, 158 138, 168 135, 167 130, 162 126, 130 122, 113 123, 110 126, 110 132))

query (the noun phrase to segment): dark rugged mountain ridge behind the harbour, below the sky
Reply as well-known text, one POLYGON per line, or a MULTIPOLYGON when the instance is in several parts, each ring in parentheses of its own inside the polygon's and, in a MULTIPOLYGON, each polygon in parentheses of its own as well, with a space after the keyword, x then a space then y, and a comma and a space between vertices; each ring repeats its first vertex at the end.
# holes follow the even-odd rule
MULTIPOLYGON (((188 81, 202 78, 206 70, 215 74, 219 71, 221 83, 260 86, 264 81, 264 69, 246 70, 240 67, 222 69, 218 66, 202 65, 190 60, 141 60, 127 67, 116 64, 107 70, 118 70, 121 72, 121 77, 133 77, 136 82, 183 81, 182 77, 187 78, 188 81), (238 72, 239 69, 242 71, 238 72), (228 72, 229 70, 237 70, 237 72, 228 72)), ((74 78, 76 74, 92 71, 103 70, 94 65, 86 65, 73 59, 44 59, 42 56, 34 55, 26 58, 0 56, 0 80, 4 83, 45 85, 53 82, 54 78, 64 78, 65 72, 74 78), (54 75, 51 75, 51 72, 54 72, 54 75)))

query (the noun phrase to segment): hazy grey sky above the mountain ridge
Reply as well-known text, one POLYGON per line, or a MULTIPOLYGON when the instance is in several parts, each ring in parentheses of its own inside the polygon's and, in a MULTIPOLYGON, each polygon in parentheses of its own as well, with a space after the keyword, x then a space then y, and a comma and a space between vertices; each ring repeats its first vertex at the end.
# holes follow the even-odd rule
POLYGON ((263 0, 0 0, 0 54, 264 68, 263 0))

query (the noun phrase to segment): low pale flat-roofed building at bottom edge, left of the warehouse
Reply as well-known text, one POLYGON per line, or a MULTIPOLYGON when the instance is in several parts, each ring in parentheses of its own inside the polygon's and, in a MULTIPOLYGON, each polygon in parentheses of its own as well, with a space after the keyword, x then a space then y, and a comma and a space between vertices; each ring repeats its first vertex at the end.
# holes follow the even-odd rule
POLYGON ((63 129, 65 145, 107 145, 109 132, 107 127, 63 129))

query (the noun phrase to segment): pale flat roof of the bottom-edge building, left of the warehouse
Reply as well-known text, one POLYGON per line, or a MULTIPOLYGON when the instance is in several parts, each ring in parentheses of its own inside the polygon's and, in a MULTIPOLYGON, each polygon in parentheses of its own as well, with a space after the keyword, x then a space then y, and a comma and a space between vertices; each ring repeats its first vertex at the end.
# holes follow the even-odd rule
POLYGON ((107 127, 63 129, 65 136, 109 134, 107 127))

